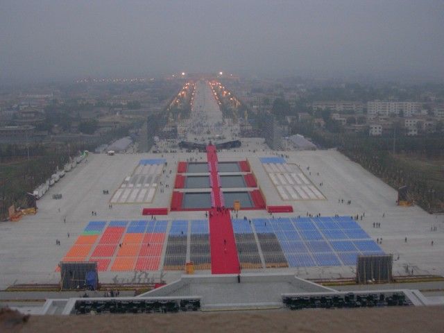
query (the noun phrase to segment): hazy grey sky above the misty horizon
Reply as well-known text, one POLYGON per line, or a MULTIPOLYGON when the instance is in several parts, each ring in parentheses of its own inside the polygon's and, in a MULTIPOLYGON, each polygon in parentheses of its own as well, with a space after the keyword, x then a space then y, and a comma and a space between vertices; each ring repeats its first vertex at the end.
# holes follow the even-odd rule
POLYGON ((444 0, 0 0, 0 80, 444 77, 444 0))

